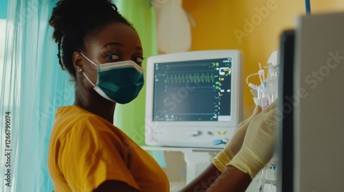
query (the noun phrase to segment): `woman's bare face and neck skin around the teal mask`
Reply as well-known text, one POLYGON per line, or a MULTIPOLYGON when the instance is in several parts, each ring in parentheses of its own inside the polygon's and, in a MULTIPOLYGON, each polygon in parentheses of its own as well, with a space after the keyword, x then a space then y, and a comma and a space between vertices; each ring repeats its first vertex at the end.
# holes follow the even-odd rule
MULTIPOLYGON (((88 36, 85 40, 86 50, 83 54, 96 64, 133 60, 142 66, 143 50, 138 34, 129 26, 113 23, 100 30, 95 36, 88 36)), ((104 99, 88 82, 84 72, 93 84, 97 82, 97 69, 78 51, 73 54, 76 69, 76 93, 74 105, 84 108, 107 121, 114 122, 116 103, 104 99), (81 70, 81 71, 80 71, 81 70)))

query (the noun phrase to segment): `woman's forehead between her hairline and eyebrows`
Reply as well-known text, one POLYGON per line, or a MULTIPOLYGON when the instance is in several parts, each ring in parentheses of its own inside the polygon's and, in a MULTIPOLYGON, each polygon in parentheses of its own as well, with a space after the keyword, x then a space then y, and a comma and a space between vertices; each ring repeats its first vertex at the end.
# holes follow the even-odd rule
POLYGON ((108 43, 120 43, 124 47, 142 47, 140 37, 129 25, 110 23, 98 32, 88 36, 85 45, 101 49, 108 43))

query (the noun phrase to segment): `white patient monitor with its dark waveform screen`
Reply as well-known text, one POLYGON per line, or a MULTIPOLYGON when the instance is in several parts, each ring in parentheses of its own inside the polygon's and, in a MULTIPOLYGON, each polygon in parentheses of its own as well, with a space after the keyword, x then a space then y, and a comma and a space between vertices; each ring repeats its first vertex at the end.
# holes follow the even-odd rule
POLYGON ((149 57, 147 145, 223 148, 243 117, 242 71, 237 50, 149 57))

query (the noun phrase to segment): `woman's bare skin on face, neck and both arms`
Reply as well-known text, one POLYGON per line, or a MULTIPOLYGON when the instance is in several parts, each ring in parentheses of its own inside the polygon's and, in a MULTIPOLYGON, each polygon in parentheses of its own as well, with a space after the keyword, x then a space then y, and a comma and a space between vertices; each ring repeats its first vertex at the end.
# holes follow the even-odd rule
MULTIPOLYGON (((141 66, 143 50, 140 38, 134 29, 122 23, 111 23, 97 34, 85 38, 85 50, 82 53, 96 64, 133 60, 141 66)), ((96 66, 78 51, 73 54, 76 69, 76 93, 74 105, 114 123, 116 103, 109 101, 94 91, 94 86, 86 79, 85 73, 96 84, 96 66)), ((224 173, 213 165, 189 183, 182 191, 245 191, 250 184, 248 173, 228 166, 224 173)), ((106 180, 94 191, 138 191, 124 182, 106 180)))

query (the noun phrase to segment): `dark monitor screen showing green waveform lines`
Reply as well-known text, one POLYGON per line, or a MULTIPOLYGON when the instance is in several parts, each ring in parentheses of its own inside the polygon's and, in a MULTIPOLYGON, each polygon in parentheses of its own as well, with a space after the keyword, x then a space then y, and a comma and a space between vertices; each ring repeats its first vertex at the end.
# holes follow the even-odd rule
POLYGON ((154 64, 153 121, 230 121, 232 58, 154 64))

